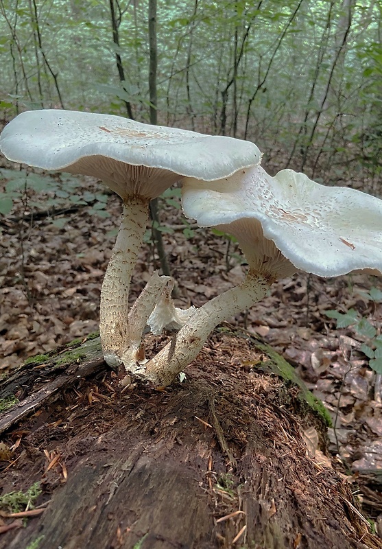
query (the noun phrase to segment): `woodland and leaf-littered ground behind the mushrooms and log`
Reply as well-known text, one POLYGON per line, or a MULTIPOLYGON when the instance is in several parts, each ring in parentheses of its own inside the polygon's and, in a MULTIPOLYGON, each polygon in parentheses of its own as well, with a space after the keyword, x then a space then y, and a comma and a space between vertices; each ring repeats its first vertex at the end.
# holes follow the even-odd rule
MULTIPOLYGON (((381 196, 381 16, 378 0, 0 0, 1 124, 67 108, 231 135, 254 141, 270 174, 290 167, 381 196)), ((198 306, 245 266, 232 238, 184 219, 179 196, 160 198, 153 226, 178 305, 198 306)), ((0 373, 97 330, 120 211, 97 180, 1 157, 0 373)), ((159 266, 151 230, 145 240, 132 300, 159 266)), ((296 366, 331 412, 333 454, 361 473, 382 468, 382 369, 369 367, 378 284, 298 274, 232 320, 296 366)), ((366 495, 377 520, 382 496, 366 495)))

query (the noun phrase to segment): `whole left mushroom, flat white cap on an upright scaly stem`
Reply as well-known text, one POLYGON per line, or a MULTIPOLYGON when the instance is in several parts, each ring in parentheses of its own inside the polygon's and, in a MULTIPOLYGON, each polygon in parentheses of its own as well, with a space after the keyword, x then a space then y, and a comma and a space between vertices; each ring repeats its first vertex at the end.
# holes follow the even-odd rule
MULTIPOLYGON (((128 293, 150 200, 182 176, 213 180, 260 159, 249 141, 69 110, 22 113, 3 130, 0 150, 14 162, 95 176, 121 196, 121 226, 101 290, 99 331, 110 366, 124 362, 126 353, 130 364, 130 341, 141 337, 142 321, 136 329, 128 320, 128 293)), ((166 283, 155 279, 158 294, 166 283)))

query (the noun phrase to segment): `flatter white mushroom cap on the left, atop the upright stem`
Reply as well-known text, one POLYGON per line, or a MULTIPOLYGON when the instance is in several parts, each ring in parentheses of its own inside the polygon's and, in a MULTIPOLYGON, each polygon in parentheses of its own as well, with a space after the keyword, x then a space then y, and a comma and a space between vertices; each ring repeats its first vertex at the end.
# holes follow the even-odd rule
POLYGON ((180 176, 213 180, 261 158, 250 141, 71 110, 22 113, 3 130, 0 149, 14 162, 96 176, 122 198, 150 199, 180 176))

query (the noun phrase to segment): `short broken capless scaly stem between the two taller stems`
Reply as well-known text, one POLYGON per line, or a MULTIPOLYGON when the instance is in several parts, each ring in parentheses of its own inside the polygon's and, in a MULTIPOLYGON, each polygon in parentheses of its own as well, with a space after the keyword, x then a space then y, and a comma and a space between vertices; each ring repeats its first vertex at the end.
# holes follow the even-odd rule
POLYGON ((125 347, 121 353, 121 362, 123 362, 126 371, 129 373, 139 374, 143 369, 141 364, 144 363, 144 355, 142 358, 139 358, 143 330, 145 329, 147 319, 152 314, 158 296, 160 296, 165 286, 170 282, 174 286, 174 281, 171 277, 160 277, 158 272, 155 271, 130 309, 128 314, 128 340, 126 340, 125 347))

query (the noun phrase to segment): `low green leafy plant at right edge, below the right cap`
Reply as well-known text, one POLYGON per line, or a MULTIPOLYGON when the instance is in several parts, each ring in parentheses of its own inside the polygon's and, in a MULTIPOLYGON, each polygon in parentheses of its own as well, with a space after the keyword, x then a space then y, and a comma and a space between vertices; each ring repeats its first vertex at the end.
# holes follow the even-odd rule
MULTIPOLYGON (((378 288, 371 288, 369 292, 363 292, 362 295, 368 301, 382 302, 382 292, 378 288)), ((325 314, 336 320, 337 328, 352 327, 356 335, 366 340, 361 343, 359 349, 368 357, 370 368, 382 374, 382 334, 377 335, 374 325, 355 309, 349 309, 344 314, 331 309, 325 311, 325 314)))

